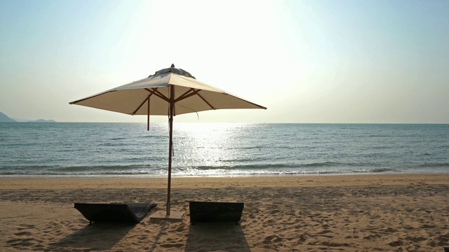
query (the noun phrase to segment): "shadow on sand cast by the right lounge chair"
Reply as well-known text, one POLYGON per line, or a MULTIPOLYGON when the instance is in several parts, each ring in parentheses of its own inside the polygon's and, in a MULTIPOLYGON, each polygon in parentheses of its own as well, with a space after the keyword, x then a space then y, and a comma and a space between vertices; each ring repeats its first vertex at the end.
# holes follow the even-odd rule
POLYGON ((219 222, 190 225, 185 251, 250 252, 251 250, 240 225, 219 222))

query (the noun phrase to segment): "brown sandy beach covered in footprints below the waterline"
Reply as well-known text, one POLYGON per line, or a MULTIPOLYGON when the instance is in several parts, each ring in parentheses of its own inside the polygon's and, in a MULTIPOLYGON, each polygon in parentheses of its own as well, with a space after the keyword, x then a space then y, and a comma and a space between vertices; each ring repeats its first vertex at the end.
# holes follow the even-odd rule
POLYGON ((449 174, 0 178, 0 251, 443 251, 449 174), (240 225, 189 224, 189 201, 244 202, 240 225), (94 223, 74 202, 158 204, 137 225, 94 223))

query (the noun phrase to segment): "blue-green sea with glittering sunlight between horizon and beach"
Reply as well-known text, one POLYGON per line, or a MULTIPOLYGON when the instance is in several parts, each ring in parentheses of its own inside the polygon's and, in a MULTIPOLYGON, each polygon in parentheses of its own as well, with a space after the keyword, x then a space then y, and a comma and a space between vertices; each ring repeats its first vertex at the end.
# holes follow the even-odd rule
MULTIPOLYGON (((0 123, 0 176, 164 177, 168 139, 168 123, 0 123)), ((173 125, 173 176, 448 172, 446 124, 173 125)))

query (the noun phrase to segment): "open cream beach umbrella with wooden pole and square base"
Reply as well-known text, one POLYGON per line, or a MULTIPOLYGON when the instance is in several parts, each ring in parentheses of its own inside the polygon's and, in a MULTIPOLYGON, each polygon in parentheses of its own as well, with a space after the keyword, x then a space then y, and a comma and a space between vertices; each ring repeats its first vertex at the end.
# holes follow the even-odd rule
POLYGON ((183 213, 170 212, 171 160, 173 152, 173 117, 183 113, 215 109, 267 109, 223 90, 196 80, 189 72, 175 68, 156 71, 153 75, 105 92, 70 102, 95 109, 104 109, 128 115, 168 116, 168 193, 165 213, 156 212, 156 218, 180 218, 183 213))

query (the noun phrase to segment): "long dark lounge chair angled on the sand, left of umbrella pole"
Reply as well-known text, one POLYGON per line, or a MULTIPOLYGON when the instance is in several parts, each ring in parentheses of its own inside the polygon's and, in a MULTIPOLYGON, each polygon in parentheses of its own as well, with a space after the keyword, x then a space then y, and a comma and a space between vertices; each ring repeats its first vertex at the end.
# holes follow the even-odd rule
POLYGON ((75 208, 92 222, 140 223, 156 204, 151 203, 75 203, 75 208))

